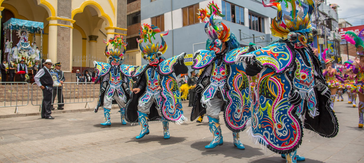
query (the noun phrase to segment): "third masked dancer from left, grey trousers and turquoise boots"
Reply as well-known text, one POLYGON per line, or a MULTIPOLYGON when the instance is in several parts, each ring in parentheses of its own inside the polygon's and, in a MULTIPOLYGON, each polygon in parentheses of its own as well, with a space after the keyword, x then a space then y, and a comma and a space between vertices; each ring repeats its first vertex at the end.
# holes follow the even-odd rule
POLYGON ((226 126, 233 131, 234 146, 243 150, 245 147, 239 139, 239 132, 245 129, 246 120, 250 117, 250 101, 245 101, 249 99, 250 86, 248 77, 242 73, 242 64, 232 65, 236 53, 230 51, 237 49, 241 53, 247 53, 253 46, 238 48, 239 43, 230 28, 214 19, 216 15, 225 15, 221 14, 213 2, 208 4, 208 8, 209 13, 206 9, 199 9, 198 18, 206 23, 208 39, 207 50, 198 50, 193 57, 192 69, 203 71, 196 85, 191 121, 206 113, 214 138, 205 148, 215 148, 223 144, 219 124, 219 113, 222 111, 226 126), (240 94, 244 94, 244 97, 240 97, 240 94))

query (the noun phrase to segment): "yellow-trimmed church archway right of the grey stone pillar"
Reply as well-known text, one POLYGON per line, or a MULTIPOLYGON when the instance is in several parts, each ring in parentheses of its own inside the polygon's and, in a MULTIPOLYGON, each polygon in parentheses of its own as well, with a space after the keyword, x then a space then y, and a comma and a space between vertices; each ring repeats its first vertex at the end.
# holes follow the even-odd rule
POLYGON ((106 61, 103 54, 106 44, 103 40, 107 39, 105 28, 109 23, 105 21, 106 18, 99 16, 99 13, 99 7, 90 4, 73 16, 75 23, 72 30, 72 72, 93 68, 93 61, 106 61))

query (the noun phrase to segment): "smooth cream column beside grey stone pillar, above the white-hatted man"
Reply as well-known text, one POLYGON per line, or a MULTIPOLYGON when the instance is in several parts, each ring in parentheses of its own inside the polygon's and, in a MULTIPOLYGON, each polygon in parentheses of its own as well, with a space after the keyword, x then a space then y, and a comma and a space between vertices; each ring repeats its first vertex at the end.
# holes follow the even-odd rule
MULTIPOLYGON (((49 24, 57 24, 57 20, 50 20, 49 24)), ((48 30, 48 59, 51 59, 53 63, 57 62, 57 26, 49 26, 48 30)), ((43 54, 47 54, 44 51, 43 54)))

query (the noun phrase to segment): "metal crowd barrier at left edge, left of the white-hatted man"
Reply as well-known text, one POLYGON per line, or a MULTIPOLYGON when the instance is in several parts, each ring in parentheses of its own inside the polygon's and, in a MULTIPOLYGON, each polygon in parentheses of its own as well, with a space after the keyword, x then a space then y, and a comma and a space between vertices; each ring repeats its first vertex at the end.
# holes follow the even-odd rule
POLYGON ((18 106, 29 104, 29 83, 0 82, 0 108, 14 107, 18 113, 18 106))

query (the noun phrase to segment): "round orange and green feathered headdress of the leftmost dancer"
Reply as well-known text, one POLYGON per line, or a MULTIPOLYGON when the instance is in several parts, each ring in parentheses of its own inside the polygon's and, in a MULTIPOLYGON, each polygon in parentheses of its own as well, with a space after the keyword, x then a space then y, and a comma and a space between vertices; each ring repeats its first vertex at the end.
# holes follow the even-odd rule
POLYGON ((114 57, 123 59, 124 54, 126 52, 127 43, 124 42, 123 36, 116 35, 114 38, 110 38, 106 43, 106 48, 104 54, 106 57, 114 57), (108 48, 109 44, 112 44, 112 48, 108 48))

